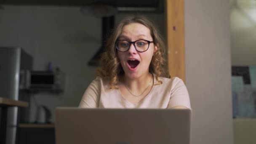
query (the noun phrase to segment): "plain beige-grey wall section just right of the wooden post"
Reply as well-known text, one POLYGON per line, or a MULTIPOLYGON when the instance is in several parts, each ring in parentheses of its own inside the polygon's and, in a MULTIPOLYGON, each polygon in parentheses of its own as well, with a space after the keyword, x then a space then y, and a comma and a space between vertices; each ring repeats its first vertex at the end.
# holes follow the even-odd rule
POLYGON ((233 144, 229 0, 185 0, 191 144, 233 144))

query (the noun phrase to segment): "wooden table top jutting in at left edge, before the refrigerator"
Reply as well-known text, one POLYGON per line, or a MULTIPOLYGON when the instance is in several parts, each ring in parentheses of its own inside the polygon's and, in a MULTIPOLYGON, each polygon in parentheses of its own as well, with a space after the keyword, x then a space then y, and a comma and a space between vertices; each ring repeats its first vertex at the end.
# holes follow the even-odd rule
POLYGON ((0 97, 0 107, 28 107, 28 102, 0 97))

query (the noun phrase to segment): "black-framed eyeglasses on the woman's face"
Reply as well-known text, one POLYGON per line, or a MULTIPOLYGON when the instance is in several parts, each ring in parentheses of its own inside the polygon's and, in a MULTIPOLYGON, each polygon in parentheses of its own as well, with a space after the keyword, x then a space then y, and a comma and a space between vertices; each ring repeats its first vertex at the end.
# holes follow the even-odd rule
POLYGON ((133 44, 136 51, 144 52, 149 49, 149 44, 153 42, 154 41, 149 41, 149 40, 136 40, 134 42, 131 42, 128 40, 117 40, 115 42, 115 47, 117 51, 125 52, 125 51, 128 51, 131 44, 133 44))

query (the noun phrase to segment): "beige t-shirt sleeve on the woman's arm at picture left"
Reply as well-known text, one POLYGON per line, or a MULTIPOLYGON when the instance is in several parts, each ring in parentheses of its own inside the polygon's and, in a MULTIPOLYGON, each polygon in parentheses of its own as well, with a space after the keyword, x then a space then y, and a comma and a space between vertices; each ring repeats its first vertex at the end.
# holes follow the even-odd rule
POLYGON ((80 108, 97 108, 99 107, 99 97, 100 97, 100 78, 97 77, 91 82, 91 84, 86 89, 83 97, 80 101, 80 108))

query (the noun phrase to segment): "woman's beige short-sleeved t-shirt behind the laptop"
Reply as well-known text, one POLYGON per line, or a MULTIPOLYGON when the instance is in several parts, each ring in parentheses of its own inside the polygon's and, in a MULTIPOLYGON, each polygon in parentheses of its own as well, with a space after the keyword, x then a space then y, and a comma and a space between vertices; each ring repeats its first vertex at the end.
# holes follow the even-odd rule
POLYGON ((119 89, 110 89, 109 81, 96 77, 86 89, 79 107, 82 108, 172 108, 183 106, 191 109, 189 94, 183 81, 178 77, 154 78, 154 85, 147 96, 133 104, 121 96, 119 89))

